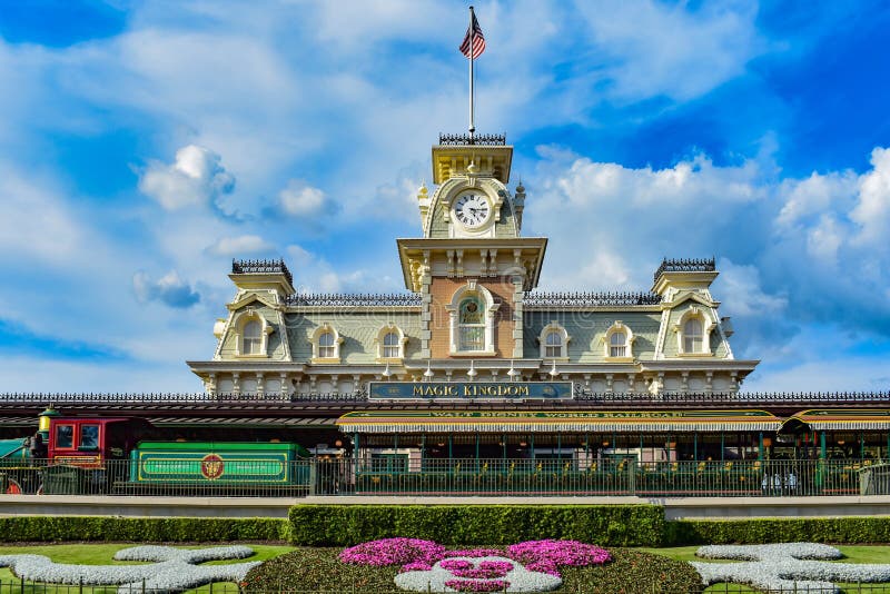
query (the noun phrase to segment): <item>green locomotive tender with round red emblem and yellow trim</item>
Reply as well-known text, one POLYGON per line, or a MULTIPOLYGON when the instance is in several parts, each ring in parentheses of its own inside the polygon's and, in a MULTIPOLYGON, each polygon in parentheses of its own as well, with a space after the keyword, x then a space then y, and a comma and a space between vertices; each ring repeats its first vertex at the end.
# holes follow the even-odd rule
POLYGON ((129 483, 308 488, 308 458, 293 443, 140 442, 130 453, 129 483))

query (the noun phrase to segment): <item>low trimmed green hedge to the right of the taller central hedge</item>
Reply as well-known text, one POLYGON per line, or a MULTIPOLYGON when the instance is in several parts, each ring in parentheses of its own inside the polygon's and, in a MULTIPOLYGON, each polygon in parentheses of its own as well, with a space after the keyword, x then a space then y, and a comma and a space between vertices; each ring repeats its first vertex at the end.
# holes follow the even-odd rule
POLYGON ((890 517, 805 517, 751 519, 679 519, 669 522, 665 543, 871 544, 890 542, 890 517))

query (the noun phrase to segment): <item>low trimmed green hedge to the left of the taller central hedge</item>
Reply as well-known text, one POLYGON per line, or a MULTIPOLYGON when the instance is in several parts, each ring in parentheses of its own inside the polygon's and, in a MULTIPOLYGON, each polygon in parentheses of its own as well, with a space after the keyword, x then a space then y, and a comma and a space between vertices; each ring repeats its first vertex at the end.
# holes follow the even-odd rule
POLYGON ((226 517, 0 517, 0 542, 121 541, 140 543, 215 543, 287 541, 283 518, 226 517))

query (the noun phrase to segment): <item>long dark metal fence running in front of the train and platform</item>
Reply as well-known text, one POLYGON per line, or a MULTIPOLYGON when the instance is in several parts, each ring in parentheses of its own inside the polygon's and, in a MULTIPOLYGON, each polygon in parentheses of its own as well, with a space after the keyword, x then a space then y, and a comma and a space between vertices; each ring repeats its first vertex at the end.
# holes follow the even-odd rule
POLYGON ((91 466, 0 461, 3 493, 300 497, 306 495, 636 495, 645 497, 890 494, 876 461, 168 458, 91 466))

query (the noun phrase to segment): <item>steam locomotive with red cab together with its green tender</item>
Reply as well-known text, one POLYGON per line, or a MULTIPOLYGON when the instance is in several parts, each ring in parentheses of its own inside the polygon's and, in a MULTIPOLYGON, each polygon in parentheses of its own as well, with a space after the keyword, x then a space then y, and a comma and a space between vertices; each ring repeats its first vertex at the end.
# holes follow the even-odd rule
POLYGON ((0 493, 47 495, 297 495, 312 455, 295 443, 151 440, 130 417, 41 413, 28 437, 0 440, 0 493))

